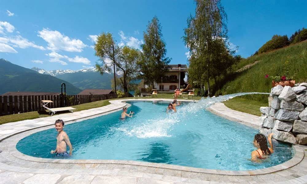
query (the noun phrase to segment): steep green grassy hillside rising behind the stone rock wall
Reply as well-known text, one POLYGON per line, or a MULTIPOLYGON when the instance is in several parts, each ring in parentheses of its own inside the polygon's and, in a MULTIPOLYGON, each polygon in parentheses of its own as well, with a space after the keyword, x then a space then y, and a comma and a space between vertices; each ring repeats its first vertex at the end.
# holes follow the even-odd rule
MULTIPOLYGON (((257 56, 251 56, 243 59, 238 66, 243 67, 247 64, 255 63, 255 61, 258 61, 258 63, 247 70, 237 73, 231 81, 224 84, 221 90, 222 94, 270 92, 272 80, 266 79, 264 77, 266 74, 271 76, 293 76, 296 83, 307 81, 306 41, 257 56)), ((248 95, 243 98, 267 102, 267 95, 248 95)))

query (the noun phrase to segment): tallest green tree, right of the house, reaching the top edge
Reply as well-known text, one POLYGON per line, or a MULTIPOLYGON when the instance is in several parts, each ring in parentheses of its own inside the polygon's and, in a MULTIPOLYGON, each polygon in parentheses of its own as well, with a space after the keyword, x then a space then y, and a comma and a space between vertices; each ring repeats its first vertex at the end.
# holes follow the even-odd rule
POLYGON ((195 1, 195 16, 188 18, 183 36, 191 55, 188 74, 190 82, 207 81, 210 95, 209 79, 229 69, 235 61, 229 60, 234 51, 227 39, 227 15, 220 0, 195 1))

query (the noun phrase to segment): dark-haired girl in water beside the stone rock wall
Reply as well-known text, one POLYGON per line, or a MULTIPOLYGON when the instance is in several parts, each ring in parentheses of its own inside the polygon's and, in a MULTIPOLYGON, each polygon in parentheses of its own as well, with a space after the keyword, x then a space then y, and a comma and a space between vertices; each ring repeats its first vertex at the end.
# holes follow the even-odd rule
POLYGON ((272 135, 273 133, 270 133, 268 136, 268 141, 270 144, 270 148, 268 148, 268 144, 266 141, 266 136, 263 134, 256 134, 254 138, 254 146, 257 148, 255 151, 251 152, 251 160, 256 161, 258 159, 266 159, 269 155, 271 155, 273 151, 273 145, 272 145, 272 135))

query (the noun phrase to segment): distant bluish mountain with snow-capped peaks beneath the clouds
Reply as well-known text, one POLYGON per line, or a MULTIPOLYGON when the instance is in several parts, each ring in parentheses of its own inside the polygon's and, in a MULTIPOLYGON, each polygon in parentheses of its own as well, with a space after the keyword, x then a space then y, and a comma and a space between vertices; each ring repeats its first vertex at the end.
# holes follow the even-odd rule
POLYGON ((111 79, 113 79, 113 73, 104 73, 100 75, 95 69, 84 68, 81 70, 52 70, 46 71, 41 68, 33 67, 41 74, 52 75, 56 78, 65 80, 72 83, 74 86, 80 89, 111 89, 111 79))

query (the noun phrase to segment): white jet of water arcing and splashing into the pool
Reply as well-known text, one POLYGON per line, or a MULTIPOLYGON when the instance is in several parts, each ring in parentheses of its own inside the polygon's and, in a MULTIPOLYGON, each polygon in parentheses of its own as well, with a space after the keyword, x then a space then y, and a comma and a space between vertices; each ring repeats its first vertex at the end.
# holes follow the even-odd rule
POLYGON ((128 136, 136 136, 138 138, 152 138, 152 137, 171 137, 169 134, 171 127, 180 122, 183 118, 188 116, 197 116, 197 112, 203 109, 207 109, 211 105, 217 102, 227 101, 231 98, 237 96, 243 96, 247 94, 270 94, 270 93, 259 93, 259 92, 250 92, 250 93, 236 93, 236 94, 227 94, 221 95, 214 98, 201 98, 198 102, 191 102, 187 105, 178 108, 177 113, 169 113, 165 116, 159 117, 158 119, 149 119, 145 120, 142 125, 136 125, 130 128, 121 128, 119 129, 122 132, 125 132, 128 136))

